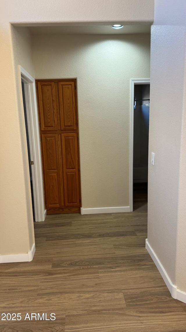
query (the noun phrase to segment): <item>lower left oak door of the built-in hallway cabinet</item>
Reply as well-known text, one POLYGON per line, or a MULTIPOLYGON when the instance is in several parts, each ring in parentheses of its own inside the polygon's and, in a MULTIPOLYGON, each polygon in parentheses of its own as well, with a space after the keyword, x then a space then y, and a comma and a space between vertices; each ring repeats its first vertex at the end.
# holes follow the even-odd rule
POLYGON ((46 205, 64 206, 61 135, 42 134, 46 205))

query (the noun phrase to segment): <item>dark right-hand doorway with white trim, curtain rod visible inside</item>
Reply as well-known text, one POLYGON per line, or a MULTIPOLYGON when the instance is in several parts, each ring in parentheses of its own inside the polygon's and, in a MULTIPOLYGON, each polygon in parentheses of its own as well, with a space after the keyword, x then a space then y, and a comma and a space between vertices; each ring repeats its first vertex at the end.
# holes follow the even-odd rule
POLYGON ((150 80, 131 80, 130 211, 147 208, 150 80))

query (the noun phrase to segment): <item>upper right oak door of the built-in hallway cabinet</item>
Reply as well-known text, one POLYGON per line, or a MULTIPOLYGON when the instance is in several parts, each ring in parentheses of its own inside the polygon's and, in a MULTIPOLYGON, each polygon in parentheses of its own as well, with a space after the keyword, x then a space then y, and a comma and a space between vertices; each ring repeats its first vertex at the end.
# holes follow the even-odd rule
POLYGON ((62 130, 77 129, 75 83, 58 82, 58 87, 59 87, 61 129, 62 130))

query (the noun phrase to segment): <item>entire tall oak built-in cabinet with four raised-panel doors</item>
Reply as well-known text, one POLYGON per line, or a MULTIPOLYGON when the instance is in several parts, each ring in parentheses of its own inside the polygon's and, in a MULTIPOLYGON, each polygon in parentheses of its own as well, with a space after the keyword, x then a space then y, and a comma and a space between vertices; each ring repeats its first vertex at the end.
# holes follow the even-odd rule
POLYGON ((75 80, 38 80, 37 91, 47 213, 80 211, 75 80))

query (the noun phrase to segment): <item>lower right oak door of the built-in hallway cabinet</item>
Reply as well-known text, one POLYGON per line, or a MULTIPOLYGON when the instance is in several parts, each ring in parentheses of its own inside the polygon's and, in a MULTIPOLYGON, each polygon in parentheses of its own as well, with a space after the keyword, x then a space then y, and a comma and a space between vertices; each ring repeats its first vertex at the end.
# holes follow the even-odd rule
POLYGON ((65 206, 79 206, 77 134, 62 134, 65 206))

